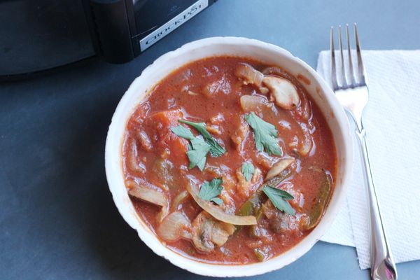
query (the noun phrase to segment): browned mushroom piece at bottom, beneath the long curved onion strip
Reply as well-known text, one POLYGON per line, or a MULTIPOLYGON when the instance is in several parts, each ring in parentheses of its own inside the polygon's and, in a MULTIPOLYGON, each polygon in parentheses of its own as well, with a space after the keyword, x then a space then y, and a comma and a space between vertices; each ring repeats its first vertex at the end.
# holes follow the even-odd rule
POLYGON ((223 246, 233 232, 233 225, 215 221, 205 211, 193 221, 193 243, 200 251, 211 252, 216 246, 223 246))

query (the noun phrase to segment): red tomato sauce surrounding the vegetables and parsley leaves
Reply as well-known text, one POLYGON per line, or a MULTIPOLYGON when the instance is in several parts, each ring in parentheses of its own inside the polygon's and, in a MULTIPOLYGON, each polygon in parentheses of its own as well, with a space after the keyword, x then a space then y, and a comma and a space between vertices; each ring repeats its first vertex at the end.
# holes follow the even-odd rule
MULTIPOLYGON (((313 225, 309 226, 309 219, 318 217, 313 213, 320 211, 320 197, 328 197, 322 212, 334 188, 336 155, 332 133, 323 113, 302 84, 279 67, 274 72, 269 72, 290 80, 300 96, 300 104, 296 109, 280 109, 270 100, 269 93, 262 94, 258 87, 244 84, 235 75, 241 63, 263 72, 271 66, 243 57, 211 57, 186 64, 155 85, 148 97, 132 113, 126 127, 123 144, 126 181, 135 181, 146 188, 165 193, 169 200, 169 214, 181 211, 191 222, 203 211, 193 198, 187 195, 181 203, 174 204, 180 193, 186 193, 186 184, 191 176, 200 183, 222 177, 222 208, 230 214, 238 214, 244 202, 262 185, 265 175, 276 160, 295 160, 292 174, 279 186, 274 186, 287 190, 294 196, 290 205, 296 211, 295 217, 286 221, 284 214, 279 214, 279 210, 267 202, 267 207, 271 207, 270 211, 283 217, 279 221, 287 225, 277 221, 280 225, 276 226, 279 223, 270 220, 270 212, 264 210, 258 222, 261 229, 258 237, 251 234, 248 225, 236 227, 235 233, 222 246, 214 246, 211 252, 201 251, 188 238, 181 237, 176 241, 162 239, 158 235, 161 221, 157 218, 161 207, 134 196, 130 197, 139 216, 166 246, 203 262, 248 264, 267 260, 287 251, 311 232, 313 225), (272 109, 256 114, 276 127, 279 146, 283 151, 281 156, 258 151, 251 127, 248 127, 246 136, 241 139, 239 148, 232 140, 235 135, 240 134, 239 127, 247 125, 244 123, 246 112, 241 107, 240 97, 255 94, 267 97, 271 104, 269 108, 272 109), (306 115, 302 113, 304 103, 308 110, 306 115), (180 125, 179 119, 206 123, 207 130, 225 148, 226 153, 220 157, 211 157, 208 154, 204 171, 197 167, 189 169, 186 155, 188 140, 171 131, 171 128, 180 125), (310 149, 306 154, 300 154, 304 139, 309 143, 310 149), (252 186, 239 188, 241 175, 237 173, 240 173, 244 162, 251 162, 259 170, 260 177, 252 186), (322 194, 325 174, 330 188, 328 193, 322 194)), ((183 126, 189 128, 195 136, 200 135, 193 127, 183 126)), ((130 190, 128 185, 127 190, 130 190)), ((267 197, 263 200, 267 200, 267 197)))

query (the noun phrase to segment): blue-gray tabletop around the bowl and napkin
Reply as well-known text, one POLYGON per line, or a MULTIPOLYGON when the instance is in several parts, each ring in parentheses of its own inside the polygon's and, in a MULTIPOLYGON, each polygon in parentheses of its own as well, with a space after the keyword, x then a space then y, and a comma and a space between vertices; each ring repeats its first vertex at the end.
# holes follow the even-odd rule
MULTIPOLYGON (((105 179, 116 105, 160 55, 199 38, 245 36, 316 66, 331 25, 358 22, 365 49, 420 48, 420 2, 220 0, 123 65, 93 60, 0 85, 0 279, 204 279, 155 255, 123 221, 105 179)), ((397 265, 419 279, 420 261, 397 265)), ((318 242, 253 279, 369 279, 354 248, 318 242)))

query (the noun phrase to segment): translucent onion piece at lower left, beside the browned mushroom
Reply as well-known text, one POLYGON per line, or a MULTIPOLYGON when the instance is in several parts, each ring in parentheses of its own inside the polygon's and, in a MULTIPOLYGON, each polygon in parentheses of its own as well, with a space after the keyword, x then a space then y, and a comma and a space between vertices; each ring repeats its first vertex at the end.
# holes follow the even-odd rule
POLYGON ((191 239, 191 223, 181 212, 176 211, 166 216, 157 230, 165 241, 176 241, 181 237, 191 239))

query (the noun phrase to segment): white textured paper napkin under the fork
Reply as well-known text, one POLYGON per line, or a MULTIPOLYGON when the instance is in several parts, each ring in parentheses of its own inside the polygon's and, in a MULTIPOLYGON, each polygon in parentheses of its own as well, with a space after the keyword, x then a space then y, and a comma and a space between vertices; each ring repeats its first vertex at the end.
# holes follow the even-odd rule
MULTIPOLYGON (((388 241, 395 262, 420 260, 420 50, 365 50, 362 55, 370 90, 363 125, 388 241)), ((329 51, 320 52, 317 71, 330 83, 329 51)), ((354 140, 346 204, 322 240, 356 246, 365 269, 370 267, 369 217, 354 140)))

